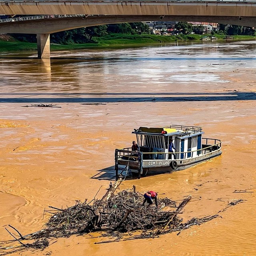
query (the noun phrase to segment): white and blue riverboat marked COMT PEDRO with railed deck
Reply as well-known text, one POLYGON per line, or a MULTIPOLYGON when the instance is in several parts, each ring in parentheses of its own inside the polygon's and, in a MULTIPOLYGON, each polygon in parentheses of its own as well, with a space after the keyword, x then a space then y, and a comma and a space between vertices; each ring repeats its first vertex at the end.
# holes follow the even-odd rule
POLYGON ((116 178, 125 170, 130 170, 138 178, 147 174, 184 170, 222 153, 221 141, 202 138, 204 132, 198 126, 140 127, 132 133, 136 134, 140 149, 116 149, 116 178), (170 139, 173 140, 175 152, 168 151, 170 139))

